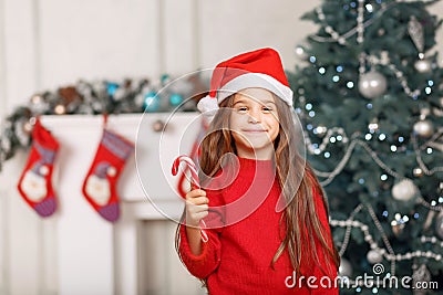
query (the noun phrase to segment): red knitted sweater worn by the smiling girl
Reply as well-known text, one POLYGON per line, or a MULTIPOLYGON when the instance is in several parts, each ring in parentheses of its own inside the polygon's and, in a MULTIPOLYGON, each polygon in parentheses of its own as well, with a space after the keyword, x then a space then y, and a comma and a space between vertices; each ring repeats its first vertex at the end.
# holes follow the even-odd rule
MULTIPOLYGON (((188 271, 198 278, 207 280, 210 295, 338 294, 337 288, 321 286, 328 283, 328 278, 333 284, 336 277, 332 262, 327 262, 321 251, 318 251, 321 265, 301 265, 306 276, 301 281, 299 277, 293 281, 287 251, 277 260, 274 268, 270 266, 285 235, 285 229, 280 225, 281 212, 275 210, 280 186, 270 160, 239 158, 239 162, 240 169, 233 183, 223 190, 206 190, 210 208, 205 219, 210 228, 206 230, 209 241, 203 243, 199 255, 190 252, 185 226, 181 228, 179 253, 188 271), (246 211, 254 212, 241 219, 246 211), (329 275, 320 268, 327 270, 329 275), (307 283, 309 276, 316 277, 311 278, 315 282, 309 281, 310 287, 307 283)), ((326 210, 318 193, 315 202, 320 221, 330 234, 326 210)))

